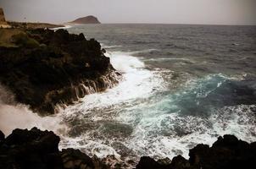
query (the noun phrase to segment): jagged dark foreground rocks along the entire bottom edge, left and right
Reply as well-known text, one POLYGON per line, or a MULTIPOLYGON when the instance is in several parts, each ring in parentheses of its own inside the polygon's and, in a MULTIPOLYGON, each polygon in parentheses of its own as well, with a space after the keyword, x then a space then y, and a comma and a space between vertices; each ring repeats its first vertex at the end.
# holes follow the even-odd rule
MULTIPOLYGON (((13 133, 4 137, 0 131, 0 168, 19 169, 107 169, 127 168, 116 163, 89 157, 80 150, 58 150, 59 137, 51 131, 41 131, 37 128, 14 129, 13 133)), ((248 144, 238 140, 233 135, 219 137, 209 147, 198 144, 189 150, 189 160, 181 155, 170 159, 154 161, 148 156, 142 156, 136 169, 223 169, 223 168, 253 168, 256 161, 256 142, 248 144)))

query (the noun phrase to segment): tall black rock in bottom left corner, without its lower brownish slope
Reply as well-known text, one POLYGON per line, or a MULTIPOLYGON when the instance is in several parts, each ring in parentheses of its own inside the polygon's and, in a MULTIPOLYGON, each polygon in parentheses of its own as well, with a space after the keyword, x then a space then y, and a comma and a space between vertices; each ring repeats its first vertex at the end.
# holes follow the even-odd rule
POLYGON ((15 129, 0 146, 0 168, 62 168, 53 132, 15 129))

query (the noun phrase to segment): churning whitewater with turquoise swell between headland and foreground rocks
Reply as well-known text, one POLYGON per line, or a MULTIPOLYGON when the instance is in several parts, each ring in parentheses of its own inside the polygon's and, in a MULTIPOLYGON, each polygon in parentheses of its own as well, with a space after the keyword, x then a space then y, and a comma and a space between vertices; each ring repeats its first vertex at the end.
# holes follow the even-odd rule
POLYGON ((108 53, 114 68, 123 74, 120 85, 86 95, 75 106, 62 110, 61 118, 70 126, 70 133, 62 138, 61 148, 75 147, 101 158, 115 155, 118 160, 137 161, 142 155, 157 159, 188 157, 188 150, 196 144, 212 144, 223 134, 255 140, 255 106, 218 109, 207 105, 214 104, 212 92, 237 79, 222 74, 191 78, 182 90, 172 93, 163 76, 169 74, 171 79, 173 72, 149 70, 129 54, 108 53))

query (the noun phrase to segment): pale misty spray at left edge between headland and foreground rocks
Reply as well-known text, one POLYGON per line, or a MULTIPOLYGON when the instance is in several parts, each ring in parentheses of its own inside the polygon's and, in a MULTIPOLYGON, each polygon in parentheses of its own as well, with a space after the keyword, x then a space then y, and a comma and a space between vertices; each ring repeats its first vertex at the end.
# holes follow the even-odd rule
POLYGON ((56 134, 65 134, 67 130, 66 126, 61 124, 59 117, 40 117, 28 106, 15 104, 14 95, 0 85, 0 130, 8 135, 14 128, 33 127, 52 130, 56 134))

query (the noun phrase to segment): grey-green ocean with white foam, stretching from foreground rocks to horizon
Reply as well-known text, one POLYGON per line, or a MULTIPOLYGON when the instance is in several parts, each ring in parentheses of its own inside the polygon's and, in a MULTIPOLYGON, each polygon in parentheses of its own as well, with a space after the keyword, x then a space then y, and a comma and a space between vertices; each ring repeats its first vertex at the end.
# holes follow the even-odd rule
POLYGON ((95 38, 120 84, 60 110, 60 149, 138 161, 188 158, 234 134, 256 141, 256 26, 75 25, 95 38))

